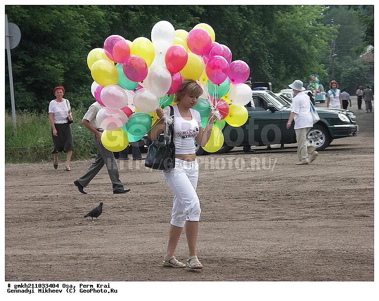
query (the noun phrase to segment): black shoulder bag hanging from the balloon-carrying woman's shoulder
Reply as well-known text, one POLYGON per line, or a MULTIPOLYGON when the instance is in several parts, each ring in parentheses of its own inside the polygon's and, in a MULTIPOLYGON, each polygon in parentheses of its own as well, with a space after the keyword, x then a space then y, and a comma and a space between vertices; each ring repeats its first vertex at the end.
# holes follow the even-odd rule
MULTIPOLYGON (((174 108, 170 106, 170 115, 174 117, 174 108)), ((170 171, 175 167, 175 144, 174 144, 174 123, 171 123, 170 131, 159 135, 147 151, 145 166, 152 169, 170 171)))

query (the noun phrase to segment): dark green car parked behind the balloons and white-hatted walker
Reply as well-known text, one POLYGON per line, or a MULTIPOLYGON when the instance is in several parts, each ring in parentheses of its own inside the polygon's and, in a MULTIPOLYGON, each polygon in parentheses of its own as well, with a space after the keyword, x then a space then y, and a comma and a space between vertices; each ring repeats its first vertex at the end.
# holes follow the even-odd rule
MULTIPOLYGON (((271 91, 253 91, 254 107, 247 107, 249 118, 241 127, 226 123, 222 130, 224 145, 218 153, 226 153, 235 146, 264 146, 296 143, 292 122, 289 130, 286 122, 291 106, 271 91)), ((333 139, 356 136, 359 126, 353 112, 344 109, 316 108, 320 120, 308 133, 308 140, 317 150, 324 150, 333 139)), ((208 154, 198 146, 197 155, 208 154)))

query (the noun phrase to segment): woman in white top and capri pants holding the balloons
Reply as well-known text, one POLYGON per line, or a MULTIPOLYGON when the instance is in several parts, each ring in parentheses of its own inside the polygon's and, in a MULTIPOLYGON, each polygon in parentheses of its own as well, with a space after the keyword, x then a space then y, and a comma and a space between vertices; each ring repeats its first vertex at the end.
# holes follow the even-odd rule
MULTIPOLYGON (((177 105, 174 109, 174 144, 175 144, 175 168, 164 171, 163 178, 171 191, 174 192, 174 203, 171 214, 171 224, 167 253, 163 266, 172 268, 202 269, 203 266, 196 255, 197 232, 200 218, 200 202, 196 194, 198 167, 196 161, 196 147, 194 140, 200 146, 208 142, 214 123, 213 112, 209 115, 209 121, 205 129, 201 126, 200 113, 193 108, 197 99, 202 94, 201 86, 192 80, 183 82, 181 89, 175 94, 174 101, 177 105), (186 226, 187 243, 189 247, 189 258, 187 264, 178 261, 175 249, 178 244, 183 227, 186 226)), ((157 126, 149 132, 151 139, 156 139, 163 133, 165 115, 170 115, 170 107, 157 109, 161 120, 157 126)))

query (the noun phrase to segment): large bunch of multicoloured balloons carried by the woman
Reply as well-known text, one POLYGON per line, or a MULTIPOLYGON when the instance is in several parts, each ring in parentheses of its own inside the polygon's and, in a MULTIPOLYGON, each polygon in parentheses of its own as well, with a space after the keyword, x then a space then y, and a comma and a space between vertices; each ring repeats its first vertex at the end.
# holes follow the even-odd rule
POLYGON ((103 48, 91 50, 87 64, 94 79, 92 94, 103 107, 96 121, 104 129, 104 147, 121 151, 129 142, 140 140, 157 122, 156 110, 172 104, 182 82, 191 79, 203 88, 193 108, 200 112, 203 128, 211 111, 219 119, 203 148, 218 151, 225 122, 239 127, 247 121, 244 106, 251 101, 252 90, 244 83, 250 76, 249 66, 242 60, 232 61, 230 49, 215 39, 215 31, 205 23, 188 32, 159 21, 152 28, 151 40, 129 41, 111 35, 103 48))

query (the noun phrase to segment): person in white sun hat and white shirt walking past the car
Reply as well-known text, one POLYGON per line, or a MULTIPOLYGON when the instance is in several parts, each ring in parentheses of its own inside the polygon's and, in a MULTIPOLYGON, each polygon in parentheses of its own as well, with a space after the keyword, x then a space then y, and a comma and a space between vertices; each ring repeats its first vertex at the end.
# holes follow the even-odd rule
POLYGON ((318 153, 316 147, 309 144, 307 135, 313 127, 313 117, 311 113, 311 102, 309 96, 302 91, 305 90, 303 82, 296 80, 288 85, 292 88, 295 97, 291 104, 291 114, 287 121, 287 129, 291 127, 292 120, 295 120, 295 133, 297 140, 297 157, 299 162, 296 164, 303 165, 315 161, 318 153), (308 158, 311 155, 311 158, 308 158))

